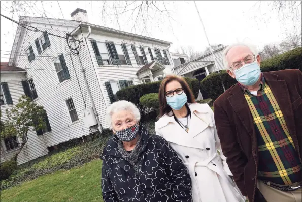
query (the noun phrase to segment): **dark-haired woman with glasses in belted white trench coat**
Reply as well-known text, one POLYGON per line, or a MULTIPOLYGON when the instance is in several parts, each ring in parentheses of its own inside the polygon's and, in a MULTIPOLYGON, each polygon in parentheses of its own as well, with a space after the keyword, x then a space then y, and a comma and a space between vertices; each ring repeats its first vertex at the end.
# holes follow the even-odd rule
POLYGON ((244 202, 230 177, 209 105, 195 103, 186 81, 172 75, 160 85, 159 103, 156 134, 169 142, 187 167, 193 202, 244 202))

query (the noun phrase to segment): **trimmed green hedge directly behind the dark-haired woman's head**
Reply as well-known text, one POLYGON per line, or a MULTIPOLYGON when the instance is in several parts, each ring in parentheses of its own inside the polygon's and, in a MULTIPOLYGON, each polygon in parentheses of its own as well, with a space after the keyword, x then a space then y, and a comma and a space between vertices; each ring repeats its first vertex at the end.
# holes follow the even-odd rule
MULTIPOLYGON (((193 91, 195 98, 197 98, 198 97, 197 92, 199 92, 198 80, 190 79, 190 78, 185 78, 185 80, 187 81, 188 85, 193 91), (198 85, 196 84, 196 80, 198 85)), ((143 95, 150 94, 150 93, 158 93, 160 84, 161 81, 151 82, 147 84, 133 85, 128 88, 119 90, 118 92, 116 92, 116 95, 119 100, 127 100, 129 102, 138 104, 140 102, 140 98, 143 95)))

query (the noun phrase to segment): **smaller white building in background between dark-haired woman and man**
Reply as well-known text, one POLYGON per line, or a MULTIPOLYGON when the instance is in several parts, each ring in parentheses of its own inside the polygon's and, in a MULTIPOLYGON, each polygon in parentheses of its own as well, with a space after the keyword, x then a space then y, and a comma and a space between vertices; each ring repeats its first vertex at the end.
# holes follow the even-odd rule
MULTIPOLYGON (((213 51, 215 60, 211 53, 205 54, 197 59, 189 61, 187 63, 175 66, 174 70, 177 75, 196 78, 202 81, 210 73, 216 72, 215 61, 217 62, 217 67, 219 70, 224 70, 221 61, 223 57, 223 50, 225 47, 222 47, 218 50, 213 51)), ((201 95, 198 96, 198 99, 207 99, 209 98, 207 93, 200 88, 201 95)))

